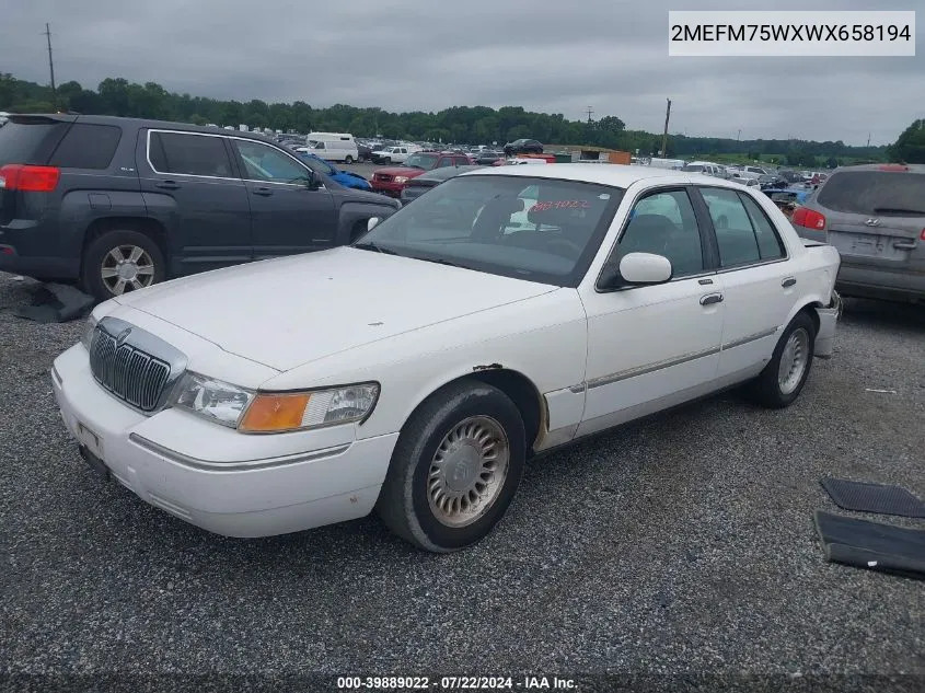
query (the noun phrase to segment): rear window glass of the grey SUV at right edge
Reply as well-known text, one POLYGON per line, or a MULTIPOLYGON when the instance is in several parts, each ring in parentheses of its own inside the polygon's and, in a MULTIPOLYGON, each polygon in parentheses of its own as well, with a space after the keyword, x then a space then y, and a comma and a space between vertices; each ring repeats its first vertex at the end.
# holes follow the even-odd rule
POLYGON ((843 171, 825 182, 817 200, 828 209, 848 213, 925 216, 925 175, 843 171))

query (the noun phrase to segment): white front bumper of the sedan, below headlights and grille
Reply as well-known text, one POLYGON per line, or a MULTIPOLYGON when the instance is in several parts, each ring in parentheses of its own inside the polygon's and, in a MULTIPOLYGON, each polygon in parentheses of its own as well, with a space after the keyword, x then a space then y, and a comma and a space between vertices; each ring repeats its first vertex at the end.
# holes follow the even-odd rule
POLYGON ((93 379, 76 345, 55 360, 68 431, 146 503, 226 536, 270 536, 368 515, 397 432, 352 426, 246 436, 180 409, 144 416, 93 379), (338 430, 339 429, 339 430, 338 430))

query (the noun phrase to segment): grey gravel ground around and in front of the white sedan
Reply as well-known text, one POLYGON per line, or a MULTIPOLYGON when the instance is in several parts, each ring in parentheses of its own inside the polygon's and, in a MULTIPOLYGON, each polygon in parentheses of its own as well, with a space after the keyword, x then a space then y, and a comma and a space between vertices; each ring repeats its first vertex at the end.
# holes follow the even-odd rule
POLYGON ((811 518, 823 475, 925 497, 925 309, 849 303, 786 411, 728 394, 536 460, 441 557, 373 518, 222 539, 101 481, 48 376, 81 324, 14 317, 34 286, 0 274, 0 672, 925 677, 923 582, 824 563, 811 518))

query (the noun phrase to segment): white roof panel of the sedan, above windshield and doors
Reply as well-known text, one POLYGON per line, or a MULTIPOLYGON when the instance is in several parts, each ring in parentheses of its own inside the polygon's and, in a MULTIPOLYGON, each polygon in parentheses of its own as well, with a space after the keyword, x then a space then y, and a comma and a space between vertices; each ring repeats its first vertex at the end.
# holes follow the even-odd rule
POLYGON ((487 166, 463 175, 516 175, 534 178, 558 178, 562 181, 598 183, 620 188, 627 188, 640 181, 652 181, 652 183, 659 184, 687 185, 702 183, 712 186, 743 187, 701 173, 633 164, 547 163, 542 166, 487 166))

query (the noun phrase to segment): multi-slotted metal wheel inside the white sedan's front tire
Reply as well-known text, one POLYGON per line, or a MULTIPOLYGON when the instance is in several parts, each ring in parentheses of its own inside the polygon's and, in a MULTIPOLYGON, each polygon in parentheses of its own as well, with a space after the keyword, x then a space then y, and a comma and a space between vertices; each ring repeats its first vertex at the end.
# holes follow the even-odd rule
POLYGON ((510 460, 508 437, 487 416, 473 416, 448 432, 430 462, 427 500, 441 524, 465 527, 497 500, 510 460))

